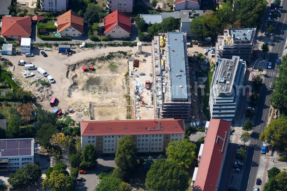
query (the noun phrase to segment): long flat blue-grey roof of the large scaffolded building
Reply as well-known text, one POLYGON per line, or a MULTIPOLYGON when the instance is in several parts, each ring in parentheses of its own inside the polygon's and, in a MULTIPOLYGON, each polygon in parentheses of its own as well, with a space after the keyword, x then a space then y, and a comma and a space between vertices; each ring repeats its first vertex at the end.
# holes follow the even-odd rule
POLYGON ((168 59, 170 65, 170 94, 172 99, 188 99, 185 49, 182 32, 167 33, 168 59), (172 51, 174 50, 174 51, 172 51))

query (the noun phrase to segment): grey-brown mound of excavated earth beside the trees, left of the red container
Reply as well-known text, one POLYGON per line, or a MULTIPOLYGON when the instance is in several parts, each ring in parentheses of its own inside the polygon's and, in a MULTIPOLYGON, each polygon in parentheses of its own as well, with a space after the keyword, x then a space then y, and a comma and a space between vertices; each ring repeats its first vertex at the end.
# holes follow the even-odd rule
POLYGON ((29 89, 36 97, 37 102, 48 101, 52 98, 53 91, 50 85, 43 85, 37 82, 32 84, 29 89))

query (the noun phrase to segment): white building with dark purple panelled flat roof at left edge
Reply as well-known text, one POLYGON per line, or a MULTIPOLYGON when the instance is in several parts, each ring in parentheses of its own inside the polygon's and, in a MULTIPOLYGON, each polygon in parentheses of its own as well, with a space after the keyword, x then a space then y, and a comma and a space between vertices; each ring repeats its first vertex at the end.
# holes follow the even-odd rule
POLYGON ((0 139, 0 171, 22 169, 34 163, 34 139, 0 139))

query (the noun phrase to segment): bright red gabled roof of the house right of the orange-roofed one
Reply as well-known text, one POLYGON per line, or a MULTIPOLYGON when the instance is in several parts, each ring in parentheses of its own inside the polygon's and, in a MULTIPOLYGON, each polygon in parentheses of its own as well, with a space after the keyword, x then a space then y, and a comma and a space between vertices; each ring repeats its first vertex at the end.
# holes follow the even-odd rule
POLYGON ((116 26, 131 34, 131 19, 119 10, 104 17, 104 33, 112 30, 116 26))

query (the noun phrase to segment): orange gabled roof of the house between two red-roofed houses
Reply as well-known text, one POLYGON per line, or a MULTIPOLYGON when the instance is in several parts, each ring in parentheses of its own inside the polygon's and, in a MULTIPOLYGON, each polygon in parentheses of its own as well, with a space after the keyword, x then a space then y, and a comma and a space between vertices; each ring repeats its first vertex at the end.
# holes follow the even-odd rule
POLYGON ((72 26, 82 34, 84 34, 84 19, 72 10, 65 12, 58 17, 58 29, 57 32, 61 32, 72 26))

